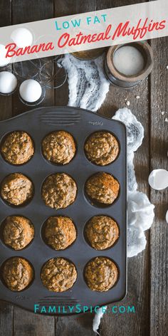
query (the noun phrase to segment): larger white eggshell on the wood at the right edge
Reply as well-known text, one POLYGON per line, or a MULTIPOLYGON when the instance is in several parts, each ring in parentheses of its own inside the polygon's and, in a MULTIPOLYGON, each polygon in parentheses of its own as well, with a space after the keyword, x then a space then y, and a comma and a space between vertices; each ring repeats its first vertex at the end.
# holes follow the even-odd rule
POLYGON ((150 187, 155 190, 162 190, 168 187, 168 172, 165 169, 154 169, 149 174, 150 187))

